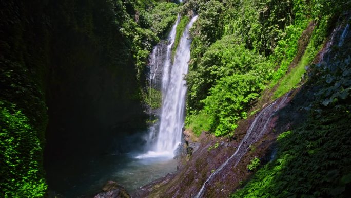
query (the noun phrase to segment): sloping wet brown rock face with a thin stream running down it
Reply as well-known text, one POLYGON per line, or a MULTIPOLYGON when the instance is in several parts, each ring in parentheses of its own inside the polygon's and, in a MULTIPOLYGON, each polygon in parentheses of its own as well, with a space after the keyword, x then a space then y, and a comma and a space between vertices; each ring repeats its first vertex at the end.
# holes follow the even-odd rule
MULTIPOLYGON (((289 101, 288 96, 280 98, 277 102, 267 104, 267 109, 256 116, 243 120, 237 128, 236 138, 231 141, 205 132, 195 139, 196 136, 191 132, 183 131, 183 154, 186 155, 186 163, 180 165, 177 173, 141 187, 135 197, 196 197, 203 185, 204 190, 198 197, 228 197, 252 174, 247 171, 250 160, 271 152, 276 135, 280 132, 274 130, 278 128, 277 119, 281 116, 277 111, 282 110, 289 101), (250 131, 249 135, 247 131, 250 131), (250 145, 256 149, 250 150, 250 145), (224 163, 226 165, 221 167, 224 163), (212 173, 214 175, 210 178, 212 173), (210 179, 207 181, 208 178, 210 179)), ((287 115, 291 115, 290 110, 289 112, 287 115)), ((294 119, 289 117, 286 120, 294 119)), ((264 158, 261 160, 264 161, 264 158)))

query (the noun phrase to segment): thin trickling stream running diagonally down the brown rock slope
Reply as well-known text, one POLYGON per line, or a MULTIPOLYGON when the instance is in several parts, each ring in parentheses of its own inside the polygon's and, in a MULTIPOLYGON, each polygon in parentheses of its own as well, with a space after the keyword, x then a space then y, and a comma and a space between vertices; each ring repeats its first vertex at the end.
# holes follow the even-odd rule
MULTIPOLYGON (((285 95, 283 99, 279 102, 278 100, 274 101, 267 107, 265 107, 253 120, 250 128, 247 130, 246 135, 244 136, 243 140, 241 140, 238 149, 214 172, 210 174, 207 178, 205 183, 202 185, 201 189, 199 190, 198 194, 194 196, 194 198, 201 198, 203 196, 204 190, 208 183, 216 176, 228 163, 231 159, 234 158, 235 163, 233 167, 236 167, 239 164, 240 159, 245 155, 247 152, 249 145, 255 143, 255 141, 266 131, 268 123, 270 123, 271 119, 275 115, 275 113, 280 109, 280 107, 285 104, 289 96, 289 93, 285 95), (278 104, 277 104, 278 103, 278 104), (245 145, 243 147, 243 145, 245 145)), ((228 173, 227 173, 228 174, 228 173)))

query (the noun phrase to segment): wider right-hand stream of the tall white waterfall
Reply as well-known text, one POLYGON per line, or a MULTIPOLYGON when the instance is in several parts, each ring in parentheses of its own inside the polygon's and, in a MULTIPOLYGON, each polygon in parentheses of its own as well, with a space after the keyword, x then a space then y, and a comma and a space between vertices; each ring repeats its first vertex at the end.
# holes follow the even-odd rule
MULTIPOLYGON (((188 72, 188 62, 190 60, 189 29, 197 19, 194 16, 185 27, 180 39, 174 63, 171 68, 169 82, 167 83, 167 73, 164 73, 163 105, 161 113, 161 123, 159 136, 155 145, 156 152, 162 152, 173 156, 173 151, 177 149, 182 138, 182 127, 184 123, 185 93, 186 86, 184 74, 188 72)), ((165 67, 164 70, 167 70, 165 67)))

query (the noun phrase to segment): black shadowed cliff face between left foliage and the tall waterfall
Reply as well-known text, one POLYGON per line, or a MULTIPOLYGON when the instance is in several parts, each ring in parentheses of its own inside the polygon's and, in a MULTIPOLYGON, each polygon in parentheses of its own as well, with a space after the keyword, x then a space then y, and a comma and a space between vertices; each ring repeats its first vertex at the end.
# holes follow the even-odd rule
POLYGON ((115 22, 111 6, 49 5, 46 166, 71 156, 126 152, 122 137, 144 128, 132 44, 117 31, 121 21, 115 22))

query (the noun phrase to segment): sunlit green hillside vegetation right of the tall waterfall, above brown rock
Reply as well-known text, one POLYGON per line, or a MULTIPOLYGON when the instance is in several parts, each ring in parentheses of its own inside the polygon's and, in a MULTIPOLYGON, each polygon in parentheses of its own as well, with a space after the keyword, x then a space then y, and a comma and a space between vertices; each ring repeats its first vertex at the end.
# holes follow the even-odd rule
MULTIPOLYGON (((275 88, 278 83, 277 98, 296 87, 305 66, 343 12, 334 5, 327 11, 329 4, 300 0, 188 1, 184 6, 196 10, 199 18, 191 31, 186 76, 187 127, 196 133, 209 130, 216 136, 231 135, 264 89, 275 88), (312 22, 317 26, 313 41, 308 42, 310 37, 303 31, 312 22), (300 56, 303 60, 297 66, 300 56), (296 68, 284 77, 289 65, 296 68), (208 119, 197 118, 204 115, 208 119), (201 127, 207 125, 209 129, 201 127)), ((337 6, 347 10, 349 4, 337 6)))

